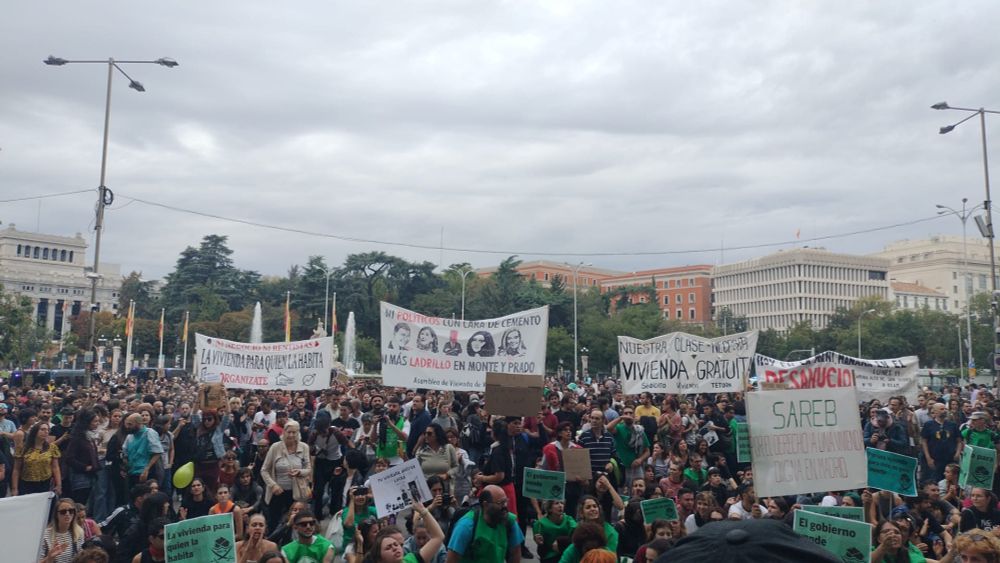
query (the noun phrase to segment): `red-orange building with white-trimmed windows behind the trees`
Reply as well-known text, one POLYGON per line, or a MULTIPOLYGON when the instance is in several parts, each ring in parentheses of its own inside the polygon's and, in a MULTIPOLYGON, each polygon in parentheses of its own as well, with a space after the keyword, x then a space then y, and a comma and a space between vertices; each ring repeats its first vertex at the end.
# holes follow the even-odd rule
MULTIPOLYGON (((601 281, 601 291, 614 294, 622 289, 652 285, 663 318, 685 323, 712 322, 712 266, 659 268, 613 276, 601 281)), ((644 303, 645 293, 630 293, 631 303, 644 303)))

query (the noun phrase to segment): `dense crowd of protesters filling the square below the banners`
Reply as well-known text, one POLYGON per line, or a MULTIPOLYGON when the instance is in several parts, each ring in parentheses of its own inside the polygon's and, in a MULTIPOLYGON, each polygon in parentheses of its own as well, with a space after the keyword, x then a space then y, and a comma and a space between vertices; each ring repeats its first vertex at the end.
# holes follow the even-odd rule
POLYGON ((491 416, 476 393, 376 380, 231 389, 212 409, 197 391, 112 376, 86 389, 2 387, 0 496, 56 496, 39 561, 163 561, 165 526, 232 514, 239 563, 646 563, 680 560, 685 537, 720 521, 790 528, 795 508, 820 504, 863 507, 873 561, 1000 563, 1000 472, 991 489, 959 485, 963 445, 1000 444, 1000 402, 975 385, 860 405, 866 447, 920 460, 912 498, 758 498, 737 461, 740 393, 623 396, 610 380, 547 378, 537 416, 515 418, 491 416), (522 495, 525 468, 562 471, 574 448, 589 450, 590 479, 567 482, 564 500, 522 495), (370 477, 409 459, 431 500, 379 518, 370 477), (175 489, 188 463, 194 478, 175 489), (678 520, 644 520, 640 502, 660 497, 678 520))

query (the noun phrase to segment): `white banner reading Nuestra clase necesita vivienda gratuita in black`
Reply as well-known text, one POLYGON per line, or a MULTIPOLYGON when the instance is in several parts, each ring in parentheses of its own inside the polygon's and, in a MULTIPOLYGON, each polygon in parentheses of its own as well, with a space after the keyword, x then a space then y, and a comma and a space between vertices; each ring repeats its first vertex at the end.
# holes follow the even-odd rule
POLYGON ((626 395, 741 392, 757 350, 756 330, 719 338, 672 332, 649 340, 618 337, 626 395))

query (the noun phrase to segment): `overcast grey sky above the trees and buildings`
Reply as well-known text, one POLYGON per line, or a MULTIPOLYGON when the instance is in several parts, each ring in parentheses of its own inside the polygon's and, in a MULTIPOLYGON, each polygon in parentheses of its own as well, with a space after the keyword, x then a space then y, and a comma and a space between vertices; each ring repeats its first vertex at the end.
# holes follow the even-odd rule
MULTIPOLYGON (((9 3, 0 199, 98 184, 107 67, 43 59, 172 57, 124 67, 145 93, 114 78, 102 261, 124 272, 165 275, 211 233, 263 274, 315 254, 442 260, 132 197, 429 247, 443 228, 445 265, 506 256, 457 248, 717 264, 799 230, 874 252, 961 224, 806 239, 984 199, 978 122, 939 135, 964 114, 929 106, 1000 109, 997 21, 990 1, 9 3), (651 252, 674 254, 625 254, 651 252)), ((1000 116, 987 129, 1000 147, 1000 116)), ((95 200, 0 203, 0 221, 92 238, 95 200)))

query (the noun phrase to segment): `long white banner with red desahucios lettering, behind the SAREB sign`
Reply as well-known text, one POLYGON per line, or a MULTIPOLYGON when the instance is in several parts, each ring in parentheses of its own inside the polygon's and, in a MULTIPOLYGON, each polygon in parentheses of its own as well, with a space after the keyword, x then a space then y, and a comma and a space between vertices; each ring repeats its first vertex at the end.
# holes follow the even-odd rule
POLYGON ((791 389, 851 387, 858 391, 859 401, 902 395, 911 402, 917 399, 916 356, 888 360, 864 360, 823 352, 797 362, 783 362, 757 354, 754 370, 762 384, 785 384, 791 389))

